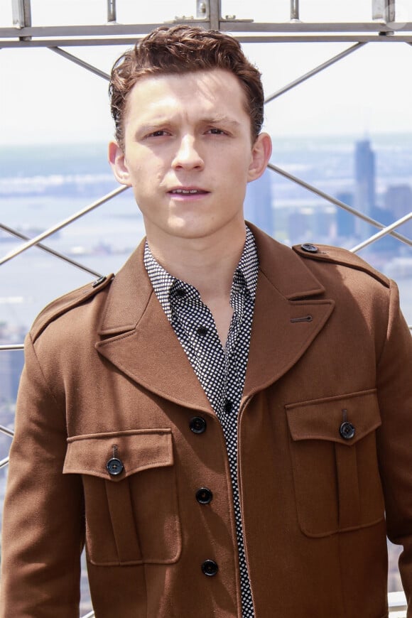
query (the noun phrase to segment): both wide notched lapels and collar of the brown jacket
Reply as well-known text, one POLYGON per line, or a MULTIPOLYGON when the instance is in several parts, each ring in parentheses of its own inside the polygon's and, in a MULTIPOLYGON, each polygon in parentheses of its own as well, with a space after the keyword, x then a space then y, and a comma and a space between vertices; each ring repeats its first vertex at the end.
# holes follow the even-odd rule
MULTIPOLYGON (((283 375, 322 329, 333 301, 290 248, 251 224, 259 278, 244 398, 283 375), (315 297, 315 298, 313 298, 315 297), (310 321, 302 321, 305 316, 310 321), (298 321, 291 321, 296 320, 298 321), (309 320, 309 318, 308 318, 309 320)), ((188 357, 163 313, 143 265, 144 240, 114 278, 99 327, 100 354, 145 388, 212 413, 188 357)))

